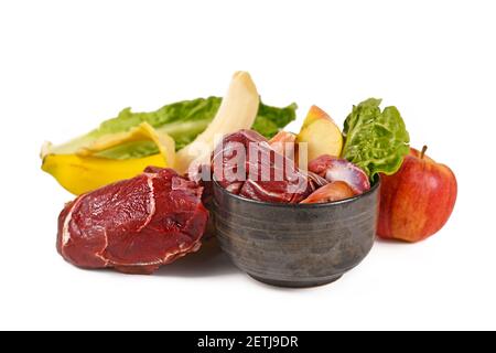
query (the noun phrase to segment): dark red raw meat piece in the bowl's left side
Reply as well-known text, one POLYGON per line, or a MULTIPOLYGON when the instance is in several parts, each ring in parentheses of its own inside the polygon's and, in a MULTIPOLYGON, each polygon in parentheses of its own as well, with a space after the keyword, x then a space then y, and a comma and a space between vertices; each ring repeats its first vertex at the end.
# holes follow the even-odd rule
POLYGON ((306 173, 252 130, 226 136, 214 152, 213 170, 227 191, 257 201, 299 203, 314 190, 306 173))

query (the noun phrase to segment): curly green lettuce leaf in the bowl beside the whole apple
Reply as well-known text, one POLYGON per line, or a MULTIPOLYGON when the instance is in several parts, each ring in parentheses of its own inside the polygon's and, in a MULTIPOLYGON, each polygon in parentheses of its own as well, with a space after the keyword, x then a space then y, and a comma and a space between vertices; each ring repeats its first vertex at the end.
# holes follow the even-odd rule
POLYGON ((353 107, 345 120, 343 157, 371 179, 393 174, 409 152, 410 137, 396 107, 380 111, 381 99, 369 98, 353 107))

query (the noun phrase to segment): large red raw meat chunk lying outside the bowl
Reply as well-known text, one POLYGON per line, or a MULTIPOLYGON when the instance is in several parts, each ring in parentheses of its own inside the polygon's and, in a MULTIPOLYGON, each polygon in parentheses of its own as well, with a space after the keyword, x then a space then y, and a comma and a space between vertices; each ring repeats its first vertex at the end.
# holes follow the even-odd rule
POLYGON ((152 274, 200 248, 208 218, 202 192, 171 169, 148 168, 68 203, 57 250, 83 268, 152 274))

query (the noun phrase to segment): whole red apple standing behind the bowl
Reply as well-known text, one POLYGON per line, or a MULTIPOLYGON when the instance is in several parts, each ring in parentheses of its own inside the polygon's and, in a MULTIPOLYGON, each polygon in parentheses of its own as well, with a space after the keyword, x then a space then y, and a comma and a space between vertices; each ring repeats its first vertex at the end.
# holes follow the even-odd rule
POLYGON ((381 175, 377 234, 385 239, 423 240, 450 218, 457 184, 454 173, 411 148, 400 170, 381 175))

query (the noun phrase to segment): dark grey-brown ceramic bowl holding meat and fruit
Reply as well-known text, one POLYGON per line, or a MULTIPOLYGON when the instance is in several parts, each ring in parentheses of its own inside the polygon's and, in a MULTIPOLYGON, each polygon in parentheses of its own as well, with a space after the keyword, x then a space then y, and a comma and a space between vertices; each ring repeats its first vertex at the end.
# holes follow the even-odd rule
POLYGON ((289 205, 247 200, 214 182, 220 247, 241 270, 281 287, 333 282, 369 253, 376 235, 379 184, 326 204, 289 205))

